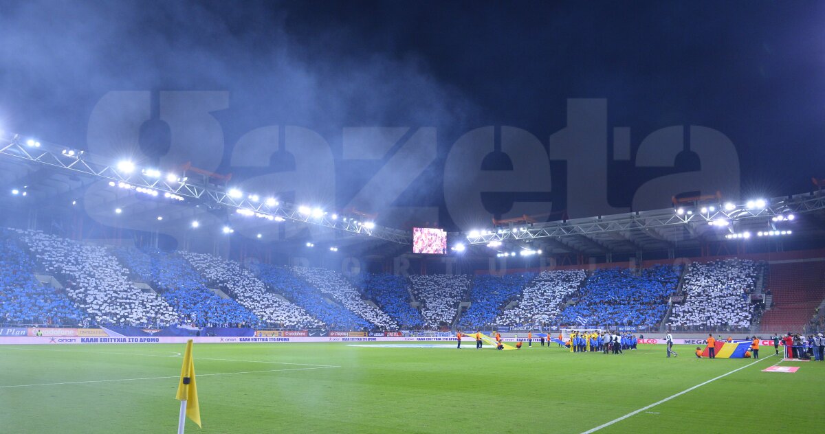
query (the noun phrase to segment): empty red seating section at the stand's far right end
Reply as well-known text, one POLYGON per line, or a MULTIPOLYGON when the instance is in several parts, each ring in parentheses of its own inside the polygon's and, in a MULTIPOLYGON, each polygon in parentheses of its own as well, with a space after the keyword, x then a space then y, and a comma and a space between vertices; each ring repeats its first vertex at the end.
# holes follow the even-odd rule
POLYGON ((799 331, 825 298, 825 260, 771 264, 766 289, 774 306, 761 318, 763 332, 799 331))

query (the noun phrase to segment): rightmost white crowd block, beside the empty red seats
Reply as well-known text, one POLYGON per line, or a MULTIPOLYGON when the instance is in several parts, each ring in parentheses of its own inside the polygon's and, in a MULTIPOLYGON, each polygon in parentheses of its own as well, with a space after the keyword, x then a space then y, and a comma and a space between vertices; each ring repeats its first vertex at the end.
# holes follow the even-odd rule
POLYGON ((693 263, 683 283, 685 301, 674 305, 672 329, 749 329, 761 264, 748 259, 693 263))

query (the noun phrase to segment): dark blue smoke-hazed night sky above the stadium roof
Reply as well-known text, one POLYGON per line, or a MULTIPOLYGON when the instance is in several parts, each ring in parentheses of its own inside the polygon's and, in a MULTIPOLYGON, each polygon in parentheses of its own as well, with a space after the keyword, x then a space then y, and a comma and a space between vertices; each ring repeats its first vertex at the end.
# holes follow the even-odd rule
MULTIPOLYGON (((214 113, 224 157, 207 169, 252 184, 295 170, 276 145, 262 142, 262 155, 273 156, 257 167, 234 164, 233 147, 256 128, 309 128, 329 144, 334 189, 290 196, 286 181, 272 189, 341 209, 402 148, 347 157, 343 128, 408 127, 403 142, 434 127, 426 168, 396 170, 399 184, 386 181, 386 191, 398 197, 373 195, 363 207, 387 226, 432 219, 391 207, 435 207, 441 226, 469 229, 476 222, 444 204, 445 184, 468 175, 445 174, 453 144, 475 128, 509 126, 547 148, 567 125, 568 99, 595 98, 606 99, 609 130, 631 129, 629 160, 606 154, 610 207, 630 208, 648 180, 700 170, 690 152, 670 168, 634 167, 639 142, 673 125, 713 128, 733 142, 742 198, 796 194, 812 188, 811 176, 825 177, 823 17, 823 2, 2 1, 0 129, 107 153, 88 134, 108 93, 149 91, 156 117, 158 91, 228 91, 228 108, 214 113)), ((131 144, 139 161, 163 161, 175 138, 160 131, 144 128, 131 144)), ((124 148, 109 151, 118 158, 124 148)), ((519 211, 513 200, 544 203, 530 212, 569 208, 583 187, 568 185, 568 164, 549 152, 552 189, 483 194, 489 213, 478 221, 519 211)), ((507 157, 485 165, 512 167, 507 157)))

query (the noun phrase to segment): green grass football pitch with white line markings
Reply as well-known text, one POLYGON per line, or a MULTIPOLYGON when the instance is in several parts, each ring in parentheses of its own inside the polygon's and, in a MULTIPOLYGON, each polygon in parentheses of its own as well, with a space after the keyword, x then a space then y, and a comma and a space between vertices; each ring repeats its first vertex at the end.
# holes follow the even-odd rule
MULTIPOLYGON (((473 343, 460 350, 422 345, 196 343, 203 429, 187 421, 186 432, 576 433, 602 425, 598 432, 817 432, 822 426, 810 425, 808 415, 818 420, 825 405, 825 363, 781 362, 799 371, 762 372, 780 362, 773 348, 762 348, 755 362, 700 360, 695 346, 677 346, 680 357, 668 359, 661 345, 619 356, 555 345, 503 352, 476 350, 473 343)), ((0 346, 0 432, 175 432, 184 347, 0 346)))

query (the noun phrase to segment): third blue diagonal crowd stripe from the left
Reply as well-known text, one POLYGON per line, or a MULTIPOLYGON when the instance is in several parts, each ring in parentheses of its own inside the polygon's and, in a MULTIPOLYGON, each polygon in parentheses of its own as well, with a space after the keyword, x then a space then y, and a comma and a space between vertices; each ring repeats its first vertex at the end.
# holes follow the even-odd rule
POLYGON ((269 264, 252 264, 250 269, 272 291, 280 293, 296 305, 303 307, 309 315, 322 320, 330 329, 365 329, 370 327, 370 323, 360 316, 335 302, 328 301, 318 292, 318 289, 309 286, 303 279, 292 273, 289 268, 269 264))

